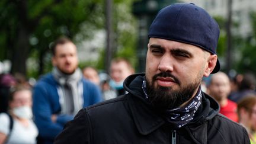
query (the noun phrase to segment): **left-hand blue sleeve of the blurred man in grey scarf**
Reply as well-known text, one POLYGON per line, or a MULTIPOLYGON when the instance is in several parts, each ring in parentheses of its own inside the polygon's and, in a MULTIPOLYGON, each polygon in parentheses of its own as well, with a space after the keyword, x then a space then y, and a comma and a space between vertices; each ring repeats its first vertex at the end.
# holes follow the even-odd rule
MULTIPOLYGON (((54 139, 62 131, 66 121, 73 119, 73 116, 56 115, 56 122, 52 121, 50 90, 51 88, 47 84, 36 85, 33 90, 34 122, 39 129, 40 136, 46 139, 54 139)), ((59 100, 56 103, 59 103, 59 100)))

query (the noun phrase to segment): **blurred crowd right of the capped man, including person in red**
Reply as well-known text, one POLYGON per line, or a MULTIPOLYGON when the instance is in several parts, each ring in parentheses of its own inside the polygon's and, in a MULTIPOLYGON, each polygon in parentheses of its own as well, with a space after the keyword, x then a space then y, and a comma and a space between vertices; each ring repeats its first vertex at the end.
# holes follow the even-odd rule
POLYGON ((219 113, 247 129, 251 143, 256 143, 256 79, 253 73, 233 77, 217 72, 203 79, 201 87, 220 105, 219 113))

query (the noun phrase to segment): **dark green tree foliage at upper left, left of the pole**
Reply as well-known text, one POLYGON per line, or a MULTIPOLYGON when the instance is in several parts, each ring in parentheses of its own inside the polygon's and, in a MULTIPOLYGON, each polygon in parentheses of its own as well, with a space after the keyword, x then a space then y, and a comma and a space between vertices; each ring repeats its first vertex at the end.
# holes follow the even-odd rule
POLYGON ((93 25, 81 34, 80 39, 86 39, 92 36, 91 31, 104 27, 103 2, 99 0, 4 0, 0 7, 0 60, 12 59, 24 49, 24 58, 31 57, 39 64, 30 66, 29 76, 31 73, 38 76, 51 69, 49 44, 57 37, 65 35, 73 39, 83 25, 93 25), (24 43, 18 37, 29 42, 24 43), (34 70, 34 67, 38 69, 34 70))

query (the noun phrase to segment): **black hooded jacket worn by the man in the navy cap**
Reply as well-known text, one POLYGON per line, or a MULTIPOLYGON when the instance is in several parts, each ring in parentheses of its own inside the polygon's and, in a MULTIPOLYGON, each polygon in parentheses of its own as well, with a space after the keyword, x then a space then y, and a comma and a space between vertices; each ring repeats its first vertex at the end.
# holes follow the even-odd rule
POLYGON ((143 74, 124 82, 129 94, 85 108, 56 137, 59 143, 249 143, 246 130, 218 114, 219 105, 206 94, 195 119, 173 130, 142 98, 143 74), (176 135, 175 135, 176 134, 176 135))

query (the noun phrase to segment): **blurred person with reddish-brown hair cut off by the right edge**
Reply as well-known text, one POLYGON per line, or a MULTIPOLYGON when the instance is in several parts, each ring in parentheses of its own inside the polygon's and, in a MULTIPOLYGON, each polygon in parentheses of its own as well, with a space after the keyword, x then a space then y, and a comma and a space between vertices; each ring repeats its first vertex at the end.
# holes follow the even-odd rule
POLYGON ((245 97, 238 102, 238 119, 247 129, 251 144, 256 144, 256 95, 245 97))

